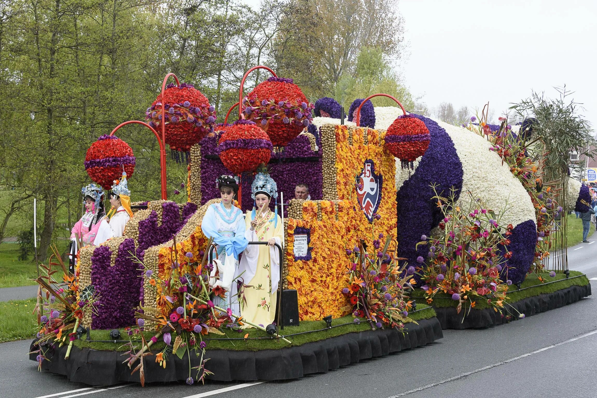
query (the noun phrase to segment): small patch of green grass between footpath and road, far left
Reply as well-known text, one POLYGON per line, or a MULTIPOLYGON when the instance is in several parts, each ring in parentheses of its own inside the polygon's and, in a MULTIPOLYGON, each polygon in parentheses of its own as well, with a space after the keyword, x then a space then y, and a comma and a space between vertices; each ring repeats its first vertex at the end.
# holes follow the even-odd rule
POLYGON ((0 301, 0 343, 34 338, 37 319, 33 315, 35 298, 0 301))

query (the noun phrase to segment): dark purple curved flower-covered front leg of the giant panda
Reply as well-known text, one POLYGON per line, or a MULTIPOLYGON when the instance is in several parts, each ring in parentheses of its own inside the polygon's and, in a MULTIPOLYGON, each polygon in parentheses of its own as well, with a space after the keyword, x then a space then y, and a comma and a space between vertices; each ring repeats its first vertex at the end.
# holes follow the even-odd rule
POLYGON ((431 137, 429 148, 421 157, 417 169, 396 193, 398 255, 408 258, 409 263, 415 265, 417 257, 425 258, 429 251, 426 245, 419 245, 416 249, 421 235, 429 236, 442 218, 441 211, 432 200, 435 194, 431 185, 435 184, 442 196, 449 195, 454 187, 458 198, 463 170, 454 143, 445 129, 432 119, 411 115, 424 122, 431 137))

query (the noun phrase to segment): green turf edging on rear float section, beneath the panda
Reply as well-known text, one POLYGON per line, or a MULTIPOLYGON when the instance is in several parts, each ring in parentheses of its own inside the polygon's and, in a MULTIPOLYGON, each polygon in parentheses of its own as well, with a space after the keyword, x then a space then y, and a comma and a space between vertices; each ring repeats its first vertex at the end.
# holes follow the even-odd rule
MULTIPOLYGON (((516 286, 510 286, 510 290, 507 294, 507 303, 516 303, 516 301, 523 300, 524 298, 537 296, 540 294, 549 294, 555 291, 570 288, 570 286, 584 286, 589 283, 589 279, 586 276, 580 276, 583 273, 579 271, 570 271, 570 278, 566 278, 565 274, 563 273, 556 273, 555 277, 547 276, 545 282, 553 282, 553 283, 542 283, 535 274, 530 274, 527 276, 527 279, 522 282, 521 290, 518 290, 516 286), (578 276, 574 277, 573 276, 578 276)), ((418 291, 415 295, 411 298, 416 298, 418 301, 424 301, 423 292, 418 291)), ((438 293, 433 298, 433 307, 457 307, 458 301, 452 300, 450 295, 445 293, 438 293)), ((464 304, 463 304, 464 306, 464 304)), ((467 305, 468 307, 468 305, 467 305)), ((489 308, 490 305, 487 304, 485 301, 476 300, 475 309, 482 310, 484 308, 489 308)))

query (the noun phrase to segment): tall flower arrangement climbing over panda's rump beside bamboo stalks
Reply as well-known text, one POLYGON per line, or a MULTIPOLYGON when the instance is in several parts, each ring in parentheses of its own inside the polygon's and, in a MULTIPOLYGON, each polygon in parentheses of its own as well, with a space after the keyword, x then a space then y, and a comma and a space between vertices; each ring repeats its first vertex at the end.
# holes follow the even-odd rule
POLYGON ((556 188, 558 181, 544 181, 541 156, 538 156, 538 161, 530 158, 529 147, 533 144, 530 140, 533 122, 525 119, 519 131, 520 134, 516 134, 507 117, 500 117, 498 120, 500 125, 488 125, 484 121, 477 123, 476 116, 472 116, 470 122, 464 124, 464 127, 490 141, 492 144, 490 150, 498 153, 502 161, 510 166, 510 172, 521 181, 530 196, 537 218, 537 243, 533 267, 530 271, 543 281, 541 276, 544 272, 543 260, 549 257, 552 245, 549 237, 555 221, 559 220, 564 212, 564 208, 556 200, 560 191, 556 188))

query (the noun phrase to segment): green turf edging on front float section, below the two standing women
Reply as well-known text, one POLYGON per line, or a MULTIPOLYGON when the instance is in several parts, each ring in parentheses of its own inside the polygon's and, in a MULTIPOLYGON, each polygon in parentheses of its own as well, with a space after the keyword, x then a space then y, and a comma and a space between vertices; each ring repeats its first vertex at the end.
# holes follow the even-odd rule
MULTIPOLYGON (((432 307, 426 306, 424 304, 418 304, 417 310, 420 311, 413 312, 410 315, 410 317, 413 320, 417 321, 421 319, 429 319, 435 316, 435 310, 433 310, 432 307)), ((290 340, 293 343, 293 345, 302 345, 305 343, 310 343, 312 341, 325 340, 326 338, 336 337, 347 333, 371 330, 371 326, 369 322, 367 322, 366 320, 361 320, 361 322, 356 323, 353 322, 353 319, 354 318, 350 315, 334 319, 332 323, 333 328, 324 330, 320 330, 325 328, 325 322, 321 320, 303 321, 298 326, 285 326, 284 330, 281 331, 281 334, 284 335, 288 340, 290 340), (334 327, 334 325, 341 325, 343 323, 347 323, 347 325, 334 327), (291 334, 306 331, 315 332, 290 336, 291 334)), ((91 331, 91 340, 109 340, 109 332, 110 331, 106 330, 91 331)), ((207 350, 257 351, 268 349, 275 350, 279 348, 288 347, 287 343, 284 343, 283 341, 278 341, 275 338, 270 338, 270 336, 267 335, 266 332, 259 330, 243 330, 240 332, 226 330, 224 331, 224 334, 225 335, 217 335, 214 333, 208 334, 207 337, 204 338, 205 343, 207 343, 207 350), (248 334, 249 338, 245 339, 245 334, 248 334), (256 340, 256 338, 262 339, 256 340)), ((124 333, 122 333, 122 335, 125 336, 124 333)), ((153 333, 145 332, 144 335, 147 339, 150 339, 153 336, 153 333)), ((125 343, 98 343, 96 341, 87 341, 83 339, 75 340, 74 344, 76 345, 76 347, 79 348, 87 347, 93 348, 94 350, 128 350, 128 347, 124 346, 125 343)), ((137 343, 136 347, 140 347, 140 344, 137 343)), ((152 345, 152 351, 154 352, 158 352, 163 348, 164 343, 162 341, 159 341, 158 343, 152 345)))

